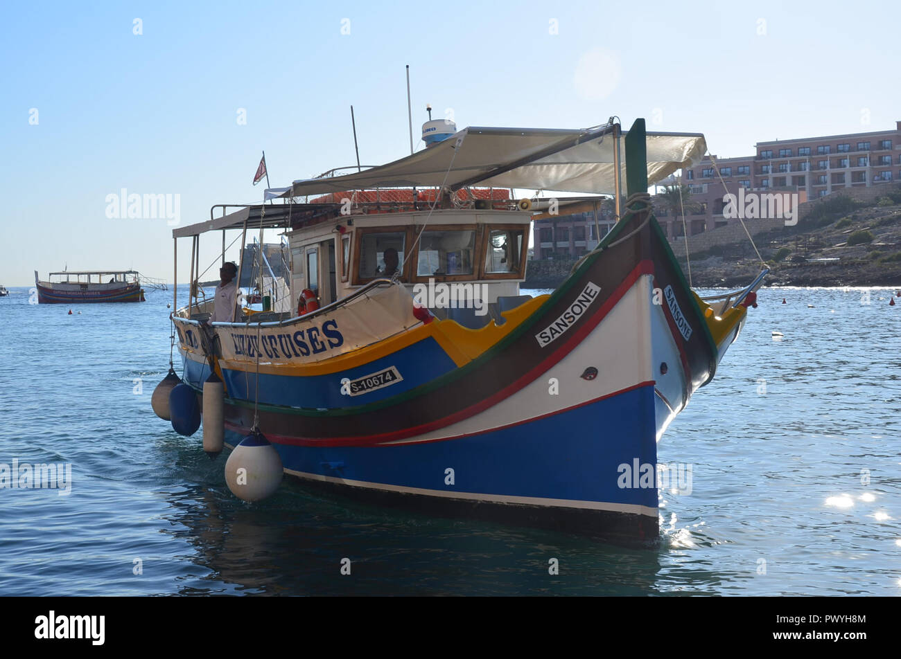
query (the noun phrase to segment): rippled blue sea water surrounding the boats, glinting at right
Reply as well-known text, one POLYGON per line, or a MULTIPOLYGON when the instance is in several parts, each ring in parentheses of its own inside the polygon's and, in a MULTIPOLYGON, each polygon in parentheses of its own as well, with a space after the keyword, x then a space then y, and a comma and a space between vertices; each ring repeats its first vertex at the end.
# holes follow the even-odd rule
POLYGON ((660 442, 661 463, 691 465, 691 492, 661 492, 658 548, 623 549, 292 481, 238 501, 227 456, 211 461, 199 433, 182 438, 150 409, 171 293, 69 316, 11 289, 0 463, 68 462, 73 483, 68 496, 0 490, 0 595, 901 594, 901 300, 869 290, 869 305, 861 289, 760 293, 660 442))

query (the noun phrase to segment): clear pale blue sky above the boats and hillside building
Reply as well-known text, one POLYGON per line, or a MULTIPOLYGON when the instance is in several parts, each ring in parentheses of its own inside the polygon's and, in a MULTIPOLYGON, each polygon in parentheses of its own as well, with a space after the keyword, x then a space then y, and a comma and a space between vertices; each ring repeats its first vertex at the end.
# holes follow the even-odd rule
MULTIPOLYGON (((351 104, 363 165, 408 155, 407 64, 416 150, 429 103, 460 129, 644 117, 727 158, 894 128, 899 25, 896 2, 832 0, 6 4, 0 284, 64 266, 171 281, 170 222, 259 202, 261 151, 273 186, 355 164, 351 104), (171 219, 116 217, 123 189, 166 195, 171 219)), ((202 239, 202 267, 221 247, 202 239)))

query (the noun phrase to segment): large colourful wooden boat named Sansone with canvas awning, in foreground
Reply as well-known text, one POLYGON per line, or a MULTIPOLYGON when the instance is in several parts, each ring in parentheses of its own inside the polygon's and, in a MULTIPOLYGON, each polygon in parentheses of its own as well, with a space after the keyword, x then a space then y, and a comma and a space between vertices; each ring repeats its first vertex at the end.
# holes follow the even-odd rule
POLYGON ((183 382, 199 398, 214 371, 225 445, 268 441, 307 483, 427 514, 656 537, 657 442, 713 378, 765 275, 702 300, 653 217, 649 184, 702 157, 704 137, 638 120, 622 165, 613 121, 445 133, 174 230, 192 254, 207 231, 285 230, 300 302, 231 322, 209 321, 212 302, 176 304, 183 382), (530 222, 568 200, 517 202, 514 189, 614 195, 619 221, 551 294, 519 290, 530 222))

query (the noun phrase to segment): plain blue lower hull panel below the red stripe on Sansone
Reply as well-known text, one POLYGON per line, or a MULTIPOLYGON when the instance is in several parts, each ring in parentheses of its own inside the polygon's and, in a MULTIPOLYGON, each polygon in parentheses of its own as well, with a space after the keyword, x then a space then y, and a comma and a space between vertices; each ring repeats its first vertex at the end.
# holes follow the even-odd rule
MULTIPOLYGON (((432 501, 630 512, 656 522, 656 483, 640 483, 638 474, 625 477, 621 466, 631 474, 633 465, 656 464, 654 404, 653 386, 645 385, 462 438, 380 447, 273 444, 289 473, 344 488, 432 501)), ((226 433, 230 445, 240 440, 226 433)))

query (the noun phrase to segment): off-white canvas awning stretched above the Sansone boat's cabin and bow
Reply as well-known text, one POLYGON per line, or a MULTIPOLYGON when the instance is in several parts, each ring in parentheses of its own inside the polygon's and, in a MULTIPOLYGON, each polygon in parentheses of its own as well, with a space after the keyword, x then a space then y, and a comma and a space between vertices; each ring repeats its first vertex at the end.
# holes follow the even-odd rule
MULTIPOLYGON (((283 196, 440 185, 613 194, 614 139, 609 131, 466 128, 432 149, 381 167, 295 181, 283 196)), ((698 162, 706 149, 700 133, 647 133, 648 185, 698 162)), ((624 182, 624 145, 621 154, 624 182)))

